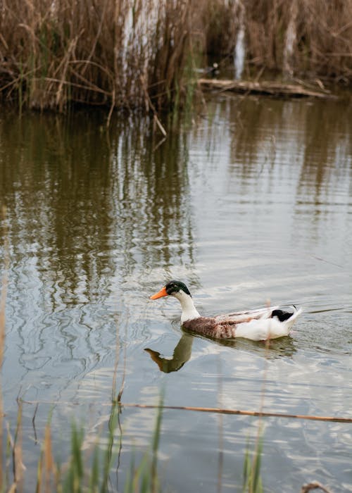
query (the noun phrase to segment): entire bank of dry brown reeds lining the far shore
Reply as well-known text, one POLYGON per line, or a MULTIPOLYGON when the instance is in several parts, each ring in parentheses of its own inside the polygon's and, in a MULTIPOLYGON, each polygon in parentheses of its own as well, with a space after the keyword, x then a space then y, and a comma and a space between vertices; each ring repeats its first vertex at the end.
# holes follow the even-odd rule
POLYGON ((246 74, 352 80, 352 0, 2 0, 0 94, 21 108, 182 106, 194 71, 232 58, 246 74))

